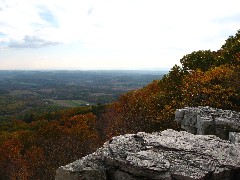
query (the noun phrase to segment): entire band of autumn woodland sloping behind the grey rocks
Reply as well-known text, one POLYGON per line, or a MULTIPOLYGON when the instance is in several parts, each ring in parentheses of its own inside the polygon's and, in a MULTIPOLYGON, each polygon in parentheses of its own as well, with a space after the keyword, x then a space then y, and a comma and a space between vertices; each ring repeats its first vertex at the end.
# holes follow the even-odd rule
POLYGON ((94 151, 112 136, 178 130, 184 106, 240 110, 240 31, 218 51, 185 55, 181 66, 113 103, 42 113, 1 125, 1 179, 53 179, 55 170, 94 151))

